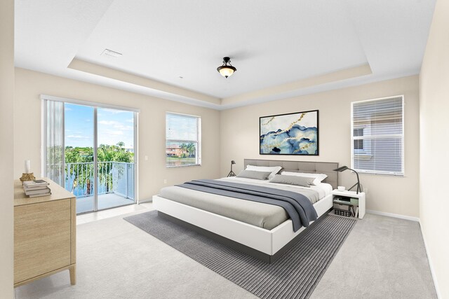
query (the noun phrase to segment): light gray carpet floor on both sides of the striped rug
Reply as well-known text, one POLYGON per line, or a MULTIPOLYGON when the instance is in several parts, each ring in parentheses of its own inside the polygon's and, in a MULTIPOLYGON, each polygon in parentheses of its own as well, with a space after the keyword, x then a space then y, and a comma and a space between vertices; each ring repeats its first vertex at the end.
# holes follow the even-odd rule
MULTIPOLYGON (((65 270, 15 288, 15 298, 257 298, 123 216, 76 225, 76 243, 76 286, 65 270)), ((357 221, 309 299, 328 298, 436 299, 419 223, 357 221)))

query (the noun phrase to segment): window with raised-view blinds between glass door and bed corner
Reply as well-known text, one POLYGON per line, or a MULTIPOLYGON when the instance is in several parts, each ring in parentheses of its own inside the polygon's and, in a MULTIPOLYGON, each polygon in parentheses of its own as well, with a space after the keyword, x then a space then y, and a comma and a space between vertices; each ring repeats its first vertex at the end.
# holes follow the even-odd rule
POLYGON ((201 118, 166 113, 166 167, 201 165, 201 118))

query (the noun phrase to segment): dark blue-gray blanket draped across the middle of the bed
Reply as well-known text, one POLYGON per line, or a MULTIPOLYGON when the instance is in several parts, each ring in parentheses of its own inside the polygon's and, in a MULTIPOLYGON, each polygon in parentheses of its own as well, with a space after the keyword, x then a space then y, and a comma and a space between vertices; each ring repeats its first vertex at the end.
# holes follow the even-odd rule
POLYGON ((189 181, 177 186, 283 207, 293 221, 295 232, 302 226, 309 226, 310 221, 318 218, 314 206, 307 197, 287 190, 209 179, 189 181))

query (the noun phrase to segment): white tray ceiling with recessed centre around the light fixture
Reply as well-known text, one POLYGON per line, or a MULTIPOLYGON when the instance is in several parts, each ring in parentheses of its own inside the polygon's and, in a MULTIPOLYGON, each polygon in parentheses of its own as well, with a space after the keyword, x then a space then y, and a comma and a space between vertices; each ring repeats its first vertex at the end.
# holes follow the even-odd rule
POLYGON ((227 109, 418 74, 434 2, 16 0, 15 64, 227 109), (227 79, 216 71, 224 56, 237 68, 227 79), (372 74, 301 84, 363 65, 372 74))

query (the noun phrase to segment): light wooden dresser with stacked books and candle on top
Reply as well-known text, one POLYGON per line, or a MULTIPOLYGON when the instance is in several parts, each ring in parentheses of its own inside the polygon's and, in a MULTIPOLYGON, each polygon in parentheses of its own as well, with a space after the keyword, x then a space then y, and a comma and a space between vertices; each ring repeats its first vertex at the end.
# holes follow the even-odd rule
POLYGON ((43 179, 50 196, 29 198, 14 182, 14 286, 62 270, 76 283, 76 197, 43 179))

